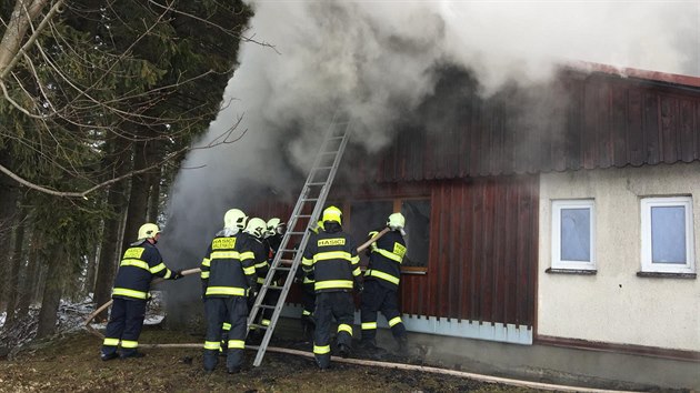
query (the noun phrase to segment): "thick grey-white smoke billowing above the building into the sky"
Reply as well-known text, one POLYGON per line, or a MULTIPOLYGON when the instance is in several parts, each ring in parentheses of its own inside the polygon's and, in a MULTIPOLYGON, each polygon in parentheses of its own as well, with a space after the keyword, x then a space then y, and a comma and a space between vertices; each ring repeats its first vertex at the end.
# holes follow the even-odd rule
POLYGON ((224 109, 197 143, 239 119, 241 140, 193 150, 176 179, 163 245, 180 268, 199 264, 228 209, 246 211, 270 192, 293 202, 289 190, 301 185, 337 111, 353 119, 352 141, 362 149, 389 145, 401 115, 433 92, 440 66, 471 70, 483 97, 511 80, 542 83, 570 62, 700 77, 700 1, 251 6, 247 36, 271 47, 243 44, 224 109))

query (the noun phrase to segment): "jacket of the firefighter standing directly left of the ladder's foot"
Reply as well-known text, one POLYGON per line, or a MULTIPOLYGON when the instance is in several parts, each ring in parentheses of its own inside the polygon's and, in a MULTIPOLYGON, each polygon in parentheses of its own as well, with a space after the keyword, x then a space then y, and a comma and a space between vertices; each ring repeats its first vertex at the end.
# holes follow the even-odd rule
POLYGON ((202 259, 202 296, 247 296, 256 286, 254 255, 242 233, 217 233, 202 259))

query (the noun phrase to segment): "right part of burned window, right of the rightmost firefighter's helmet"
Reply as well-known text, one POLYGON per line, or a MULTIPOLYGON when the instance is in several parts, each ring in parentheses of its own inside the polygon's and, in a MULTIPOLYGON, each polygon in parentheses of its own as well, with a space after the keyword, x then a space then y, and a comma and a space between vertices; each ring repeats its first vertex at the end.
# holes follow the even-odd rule
MULTIPOLYGON (((404 268, 428 268, 430 250, 430 200, 402 200, 401 213, 406 216, 404 268)), ((411 269, 413 270, 413 269, 411 269)))

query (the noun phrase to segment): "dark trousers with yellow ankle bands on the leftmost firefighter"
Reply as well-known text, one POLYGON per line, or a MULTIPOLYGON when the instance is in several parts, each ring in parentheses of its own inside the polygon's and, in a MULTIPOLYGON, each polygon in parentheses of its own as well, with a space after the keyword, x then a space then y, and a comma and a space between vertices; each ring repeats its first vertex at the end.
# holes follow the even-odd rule
POLYGON ((146 301, 122 298, 114 298, 112 301, 102 354, 111 355, 117 352, 117 346, 121 345, 122 356, 128 356, 137 352, 139 346, 139 335, 146 318, 146 301))

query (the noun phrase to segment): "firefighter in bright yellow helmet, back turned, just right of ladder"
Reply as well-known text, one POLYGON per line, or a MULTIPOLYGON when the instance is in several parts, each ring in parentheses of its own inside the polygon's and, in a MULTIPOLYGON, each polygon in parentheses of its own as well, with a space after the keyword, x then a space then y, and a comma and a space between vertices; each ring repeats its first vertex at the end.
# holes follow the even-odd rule
POLYGON ((313 273, 316 283, 316 332, 313 355, 321 370, 330 365, 330 330, 338 321, 337 343, 341 356, 348 356, 354 320, 353 286, 361 291, 360 258, 354 242, 342 231, 342 212, 336 206, 323 210, 323 230, 303 253, 303 270, 313 273))

